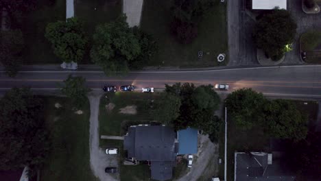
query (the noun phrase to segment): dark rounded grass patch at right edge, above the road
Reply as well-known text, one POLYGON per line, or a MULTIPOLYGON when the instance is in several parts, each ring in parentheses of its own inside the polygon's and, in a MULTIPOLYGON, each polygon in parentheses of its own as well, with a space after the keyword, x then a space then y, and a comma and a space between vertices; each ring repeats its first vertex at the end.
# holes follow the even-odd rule
POLYGON ((302 51, 307 52, 305 62, 311 64, 321 63, 321 31, 310 30, 300 38, 302 51))

